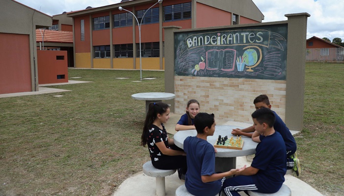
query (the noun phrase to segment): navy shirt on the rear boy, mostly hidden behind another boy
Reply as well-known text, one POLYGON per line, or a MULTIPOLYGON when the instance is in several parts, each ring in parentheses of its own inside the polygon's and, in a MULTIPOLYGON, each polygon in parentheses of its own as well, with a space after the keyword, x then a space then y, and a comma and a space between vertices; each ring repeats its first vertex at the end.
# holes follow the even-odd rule
MULTIPOLYGON (((274 111, 273 111, 274 112, 274 111)), ((287 152, 291 151, 292 154, 296 152, 296 142, 294 137, 291 135, 286 123, 284 123, 279 117, 276 112, 274 112, 276 121, 274 123, 274 129, 275 131, 279 132, 282 135, 282 138, 284 140, 284 143, 286 144, 287 152)))

